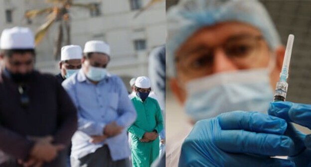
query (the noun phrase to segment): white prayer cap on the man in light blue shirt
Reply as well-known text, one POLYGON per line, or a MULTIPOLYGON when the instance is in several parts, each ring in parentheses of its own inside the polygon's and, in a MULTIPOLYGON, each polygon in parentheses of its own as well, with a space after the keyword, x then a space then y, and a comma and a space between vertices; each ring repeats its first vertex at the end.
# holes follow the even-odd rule
POLYGON ((104 53, 106 55, 110 55, 110 46, 104 41, 88 41, 84 45, 83 53, 90 52, 104 53))

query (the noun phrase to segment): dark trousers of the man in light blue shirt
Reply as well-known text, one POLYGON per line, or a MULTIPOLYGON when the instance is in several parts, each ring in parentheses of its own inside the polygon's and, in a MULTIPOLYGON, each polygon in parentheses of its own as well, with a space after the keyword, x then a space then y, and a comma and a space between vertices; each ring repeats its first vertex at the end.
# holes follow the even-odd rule
POLYGON ((107 145, 79 160, 71 158, 71 167, 130 167, 129 159, 113 161, 107 145))

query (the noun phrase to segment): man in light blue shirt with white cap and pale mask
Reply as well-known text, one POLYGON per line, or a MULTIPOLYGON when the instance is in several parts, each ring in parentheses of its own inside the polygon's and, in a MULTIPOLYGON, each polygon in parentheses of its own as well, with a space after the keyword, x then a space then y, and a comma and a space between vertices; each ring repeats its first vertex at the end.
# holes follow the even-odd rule
POLYGON ((107 73, 110 47, 85 44, 82 69, 62 85, 78 109, 78 131, 72 137, 72 167, 129 167, 126 127, 136 111, 122 80, 107 73))

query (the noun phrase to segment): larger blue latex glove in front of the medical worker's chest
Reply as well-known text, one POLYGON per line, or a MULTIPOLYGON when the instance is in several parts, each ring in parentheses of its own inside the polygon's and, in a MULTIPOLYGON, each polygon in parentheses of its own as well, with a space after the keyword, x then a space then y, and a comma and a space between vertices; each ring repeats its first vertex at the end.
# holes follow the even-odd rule
POLYGON ((290 153, 283 119, 259 112, 233 111, 198 121, 182 144, 179 167, 295 167, 270 158, 290 153))

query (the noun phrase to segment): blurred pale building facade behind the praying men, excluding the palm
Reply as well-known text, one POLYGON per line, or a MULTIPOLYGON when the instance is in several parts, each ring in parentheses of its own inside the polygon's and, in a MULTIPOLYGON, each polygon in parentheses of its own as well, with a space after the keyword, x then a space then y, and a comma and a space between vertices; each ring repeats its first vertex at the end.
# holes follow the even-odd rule
MULTIPOLYGON (((138 17, 134 15, 150 0, 73 0, 94 3, 96 10, 70 8, 71 44, 82 48, 88 40, 104 40, 111 46, 108 70, 123 78, 148 76, 148 54, 165 43, 165 0, 156 3, 138 17)), ((24 18, 30 9, 53 4, 46 0, 0 0, 0 30, 13 26, 27 26, 36 31, 44 23, 45 15, 31 20, 24 18)), ((37 69, 58 73, 58 61, 53 58, 57 23, 37 46, 37 69)), ((65 38, 65 37, 64 37, 65 38)), ((127 79, 126 79, 127 80, 127 79)))

